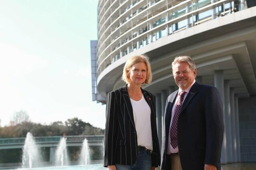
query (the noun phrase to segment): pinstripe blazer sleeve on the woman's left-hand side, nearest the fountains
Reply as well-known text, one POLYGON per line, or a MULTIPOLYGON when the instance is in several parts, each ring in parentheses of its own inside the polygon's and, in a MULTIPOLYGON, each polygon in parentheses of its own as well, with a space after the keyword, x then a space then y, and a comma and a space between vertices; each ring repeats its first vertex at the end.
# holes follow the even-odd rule
POLYGON ((117 99, 114 91, 108 93, 106 100, 106 127, 104 134, 104 167, 115 164, 115 141, 117 126, 117 99))

